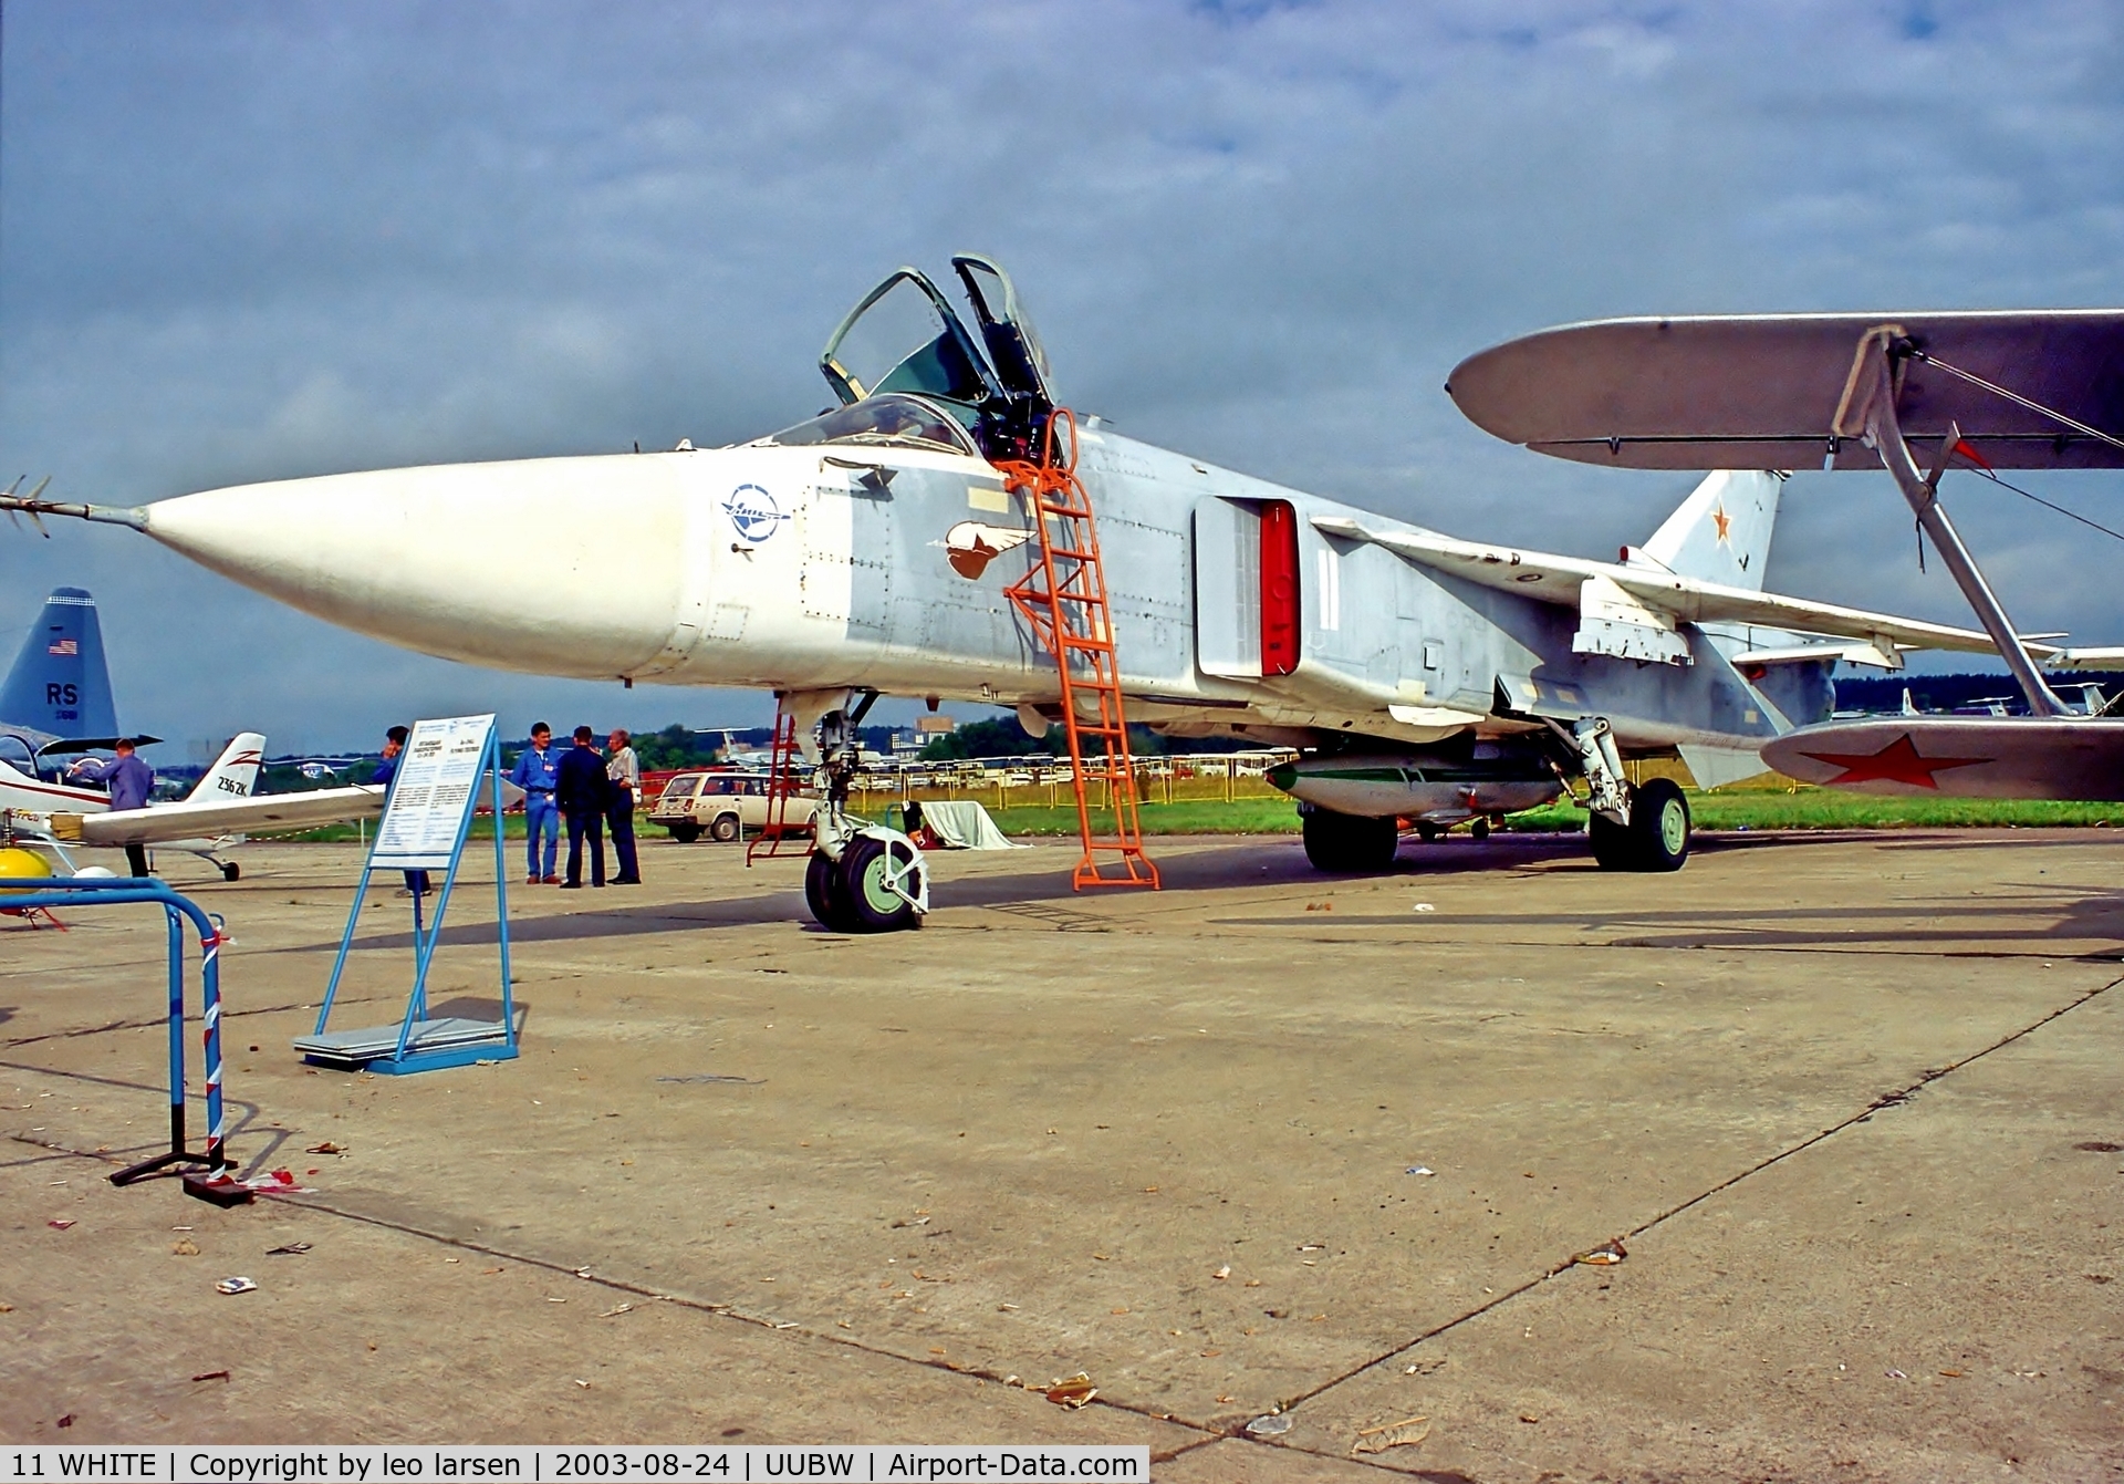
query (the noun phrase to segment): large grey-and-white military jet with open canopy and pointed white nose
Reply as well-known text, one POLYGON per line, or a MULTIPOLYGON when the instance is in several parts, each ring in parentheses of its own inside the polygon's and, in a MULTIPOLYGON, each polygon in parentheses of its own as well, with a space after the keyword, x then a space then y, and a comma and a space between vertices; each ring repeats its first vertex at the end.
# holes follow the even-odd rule
MULTIPOLYGON (((877 693, 1013 706, 1043 731, 1060 716, 1056 659, 1005 595, 1041 542, 998 463, 1039 455, 1056 398, 1003 268, 952 268, 979 336, 901 268, 820 357, 841 406, 750 442, 0 508, 144 532, 448 659, 765 687, 805 731, 843 740, 877 693), (489 559, 493 529, 586 498, 627 519, 489 559), (525 591, 554 602, 527 612, 525 591)), ((1568 787, 1604 867, 1674 870, 1686 802, 1667 780, 1629 787, 1625 759, 1680 755, 1708 785, 1754 774, 1765 742, 1829 714, 1837 659, 1992 648, 1973 629, 1765 593, 1778 474, 1712 474, 1642 549, 1593 561, 1442 536, 1096 417, 1077 444, 1130 721, 1300 748, 1277 782, 1328 872, 1387 867, 1402 819, 1487 816, 1568 787)), ((913 908, 884 876, 843 884, 913 908)))

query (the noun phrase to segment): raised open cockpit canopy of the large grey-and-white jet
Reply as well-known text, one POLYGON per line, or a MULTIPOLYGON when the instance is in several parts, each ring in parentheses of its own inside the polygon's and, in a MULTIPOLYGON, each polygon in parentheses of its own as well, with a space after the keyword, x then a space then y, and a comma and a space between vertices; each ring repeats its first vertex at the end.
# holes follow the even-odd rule
MULTIPOLYGON (((1054 410, 1047 353, 1000 266, 960 253, 952 268, 981 340, 926 274, 901 268, 847 313, 818 366, 843 410, 881 393, 913 393, 909 400, 947 410, 990 459, 1032 457, 1054 410)), ((790 438, 775 434, 775 442, 790 438)))

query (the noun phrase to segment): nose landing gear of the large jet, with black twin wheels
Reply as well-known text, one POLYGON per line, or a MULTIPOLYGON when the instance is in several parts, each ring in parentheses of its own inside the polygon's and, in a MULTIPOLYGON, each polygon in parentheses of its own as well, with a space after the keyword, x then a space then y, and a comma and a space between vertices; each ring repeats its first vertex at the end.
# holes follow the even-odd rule
POLYGON ((818 729, 816 787, 824 802, 813 819, 803 895, 820 927, 837 933, 894 933, 922 927, 928 914, 928 863, 920 846, 898 829, 847 812, 862 759, 856 729, 875 699, 867 691, 854 708, 826 712, 818 729))

